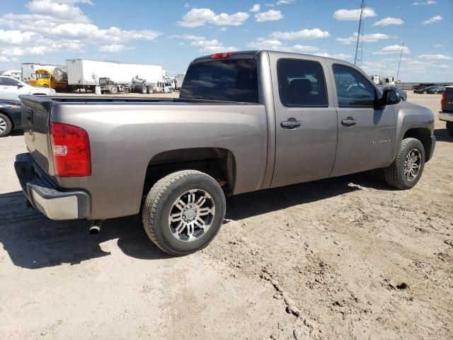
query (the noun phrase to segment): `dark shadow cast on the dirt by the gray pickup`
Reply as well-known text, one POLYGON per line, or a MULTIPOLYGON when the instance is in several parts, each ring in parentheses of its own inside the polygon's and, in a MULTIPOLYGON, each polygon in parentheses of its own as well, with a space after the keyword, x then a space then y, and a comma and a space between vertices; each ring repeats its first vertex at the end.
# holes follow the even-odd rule
MULTIPOLYGON (((362 186, 387 188, 367 173, 248 193, 228 198, 226 219, 241 220, 357 191, 362 186)), ((106 220, 94 236, 88 234, 89 226, 86 220, 48 220, 38 210, 25 208, 21 191, 0 194, 0 243, 16 266, 37 269, 98 259, 110 255, 105 249, 111 249, 111 244, 103 242, 112 239, 117 239, 124 254, 136 259, 169 257, 149 241, 139 215, 106 220)))

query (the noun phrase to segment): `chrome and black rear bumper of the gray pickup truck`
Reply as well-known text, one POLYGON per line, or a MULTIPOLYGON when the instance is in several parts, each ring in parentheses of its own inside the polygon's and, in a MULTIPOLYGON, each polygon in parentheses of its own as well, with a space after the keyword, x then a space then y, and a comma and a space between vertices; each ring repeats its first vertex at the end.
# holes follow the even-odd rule
POLYGON ((90 196, 85 191, 59 191, 30 154, 18 154, 14 168, 28 201, 51 220, 76 220, 90 215, 90 196))

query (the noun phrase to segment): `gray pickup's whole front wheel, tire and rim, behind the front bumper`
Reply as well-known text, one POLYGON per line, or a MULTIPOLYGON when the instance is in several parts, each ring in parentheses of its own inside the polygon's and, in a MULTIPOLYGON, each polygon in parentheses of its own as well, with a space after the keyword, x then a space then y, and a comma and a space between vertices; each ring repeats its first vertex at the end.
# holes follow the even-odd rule
POLYGON ((425 149, 420 140, 406 138, 394 162, 384 169, 385 181, 397 189, 410 189, 420 180, 425 167, 425 149))

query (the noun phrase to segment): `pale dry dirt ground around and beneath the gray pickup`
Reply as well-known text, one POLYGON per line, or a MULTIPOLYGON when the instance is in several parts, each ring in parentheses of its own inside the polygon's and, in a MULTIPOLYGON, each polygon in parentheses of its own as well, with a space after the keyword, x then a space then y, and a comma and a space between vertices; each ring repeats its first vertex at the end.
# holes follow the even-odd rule
POLYGON ((23 136, 2 138, 0 339, 453 339, 453 137, 435 135, 410 191, 372 171, 232 197, 180 258, 138 216, 90 236, 27 210, 23 136))

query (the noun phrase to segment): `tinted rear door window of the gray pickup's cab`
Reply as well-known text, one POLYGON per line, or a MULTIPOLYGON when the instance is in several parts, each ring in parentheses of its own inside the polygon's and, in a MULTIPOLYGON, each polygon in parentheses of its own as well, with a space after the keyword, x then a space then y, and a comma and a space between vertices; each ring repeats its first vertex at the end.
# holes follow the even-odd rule
POLYGON ((277 62, 280 101, 287 107, 327 107, 326 80, 319 62, 281 59, 277 62))

